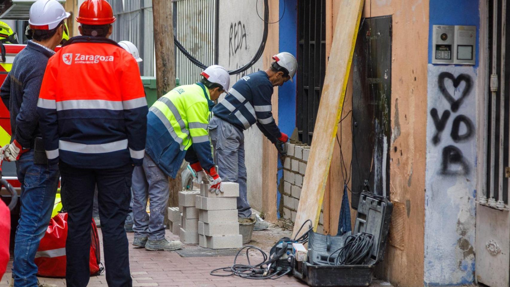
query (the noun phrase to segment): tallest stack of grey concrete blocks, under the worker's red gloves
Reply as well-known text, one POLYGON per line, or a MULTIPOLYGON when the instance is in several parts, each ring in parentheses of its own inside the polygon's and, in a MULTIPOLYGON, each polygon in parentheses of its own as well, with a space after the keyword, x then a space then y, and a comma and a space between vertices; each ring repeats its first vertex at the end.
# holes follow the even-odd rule
POLYGON ((237 197, 239 185, 222 182, 223 192, 209 192, 208 184, 200 185, 196 197, 198 214, 198 242, 200 247, 211 249, 241 248, 243 236, 239 234, 237 197))

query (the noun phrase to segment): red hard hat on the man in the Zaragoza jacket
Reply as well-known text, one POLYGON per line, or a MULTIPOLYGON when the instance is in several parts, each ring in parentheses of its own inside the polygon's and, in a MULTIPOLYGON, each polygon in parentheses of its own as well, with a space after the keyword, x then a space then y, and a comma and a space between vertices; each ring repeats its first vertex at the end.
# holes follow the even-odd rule
POLYGON ((106 0, 86 0, 80 6, 76 21, 88 25, 106 25, 115 22, 112 6, 106 0))

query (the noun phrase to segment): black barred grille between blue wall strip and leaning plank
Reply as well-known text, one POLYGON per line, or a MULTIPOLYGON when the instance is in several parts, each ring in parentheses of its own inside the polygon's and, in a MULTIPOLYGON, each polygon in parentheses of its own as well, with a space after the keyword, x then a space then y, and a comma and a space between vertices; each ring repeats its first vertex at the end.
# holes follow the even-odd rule
POLYGON ((326 1, 298 1, 297 109, 299 140, 312 143, 326 71, 326 1))

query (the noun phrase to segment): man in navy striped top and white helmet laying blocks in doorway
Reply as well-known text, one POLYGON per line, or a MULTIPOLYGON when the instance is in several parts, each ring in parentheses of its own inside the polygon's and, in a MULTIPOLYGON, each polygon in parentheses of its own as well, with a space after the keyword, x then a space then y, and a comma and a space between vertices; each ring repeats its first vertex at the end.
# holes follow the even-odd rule
MULTIPOLYGON (((276 125, 271 113, 273 87, 291 81, 297 70, 292 54, 282 52, 273 56, 269 69, 242 77, 228 91, 225 98, 213 108, 209 121, 209 135, 218 157, 218 173, 225 181, 239 184, 237 210, 239 217, 251 217, 246 186, 243 131, 257 123, 260 131, 276 147, 287 142, 288 136, 276 125)), ((281 148, 278 151, 282 152, 281 148)), ((267 228, 266 222, 257 221, 254 230, 267 228)))

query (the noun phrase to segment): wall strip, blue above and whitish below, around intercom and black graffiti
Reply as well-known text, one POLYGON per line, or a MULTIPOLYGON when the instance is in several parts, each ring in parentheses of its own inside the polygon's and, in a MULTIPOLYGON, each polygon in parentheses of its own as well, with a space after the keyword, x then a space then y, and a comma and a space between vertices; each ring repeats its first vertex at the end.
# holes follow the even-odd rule
MULTIPOLYGON (((470 285, 475 274, 475 213, 476 213, 476 137, 455 142, 449 136, 453 118, 462 115, 472 122, 472 135, 477 134, 476 110, 477 67, 479 63, 479 0, 429 0, 429 37, 427 66, 427 154, 425 171, 425 238, 424 238, 424 285, 455 286, 470 285), (436 65, 432 63, 432 25, 476 26, 476 65, 436 65), (465 85, 454 88, 441 75, 445 72, 457 78, 464 74, 472 81, 472 89, 466 90, 466 99, 446 122, 439 142, 433 142, 437 128, 431 117, 432 110, 452 110, 438 81, 445 83, 451 94, 463 93, 465 85), (443 80, 441 80, 443 79, 443 80), (462 172, 448 173, 442 170, 441 155, 449 147, 461 154, 467 166, 462 172)), ((457 78, 458 79, 458 78, 457 78)), ((454 168, 448 166, 448 168, 454 168)), ((443 167, 444 169, 444 167, 443 167)))

